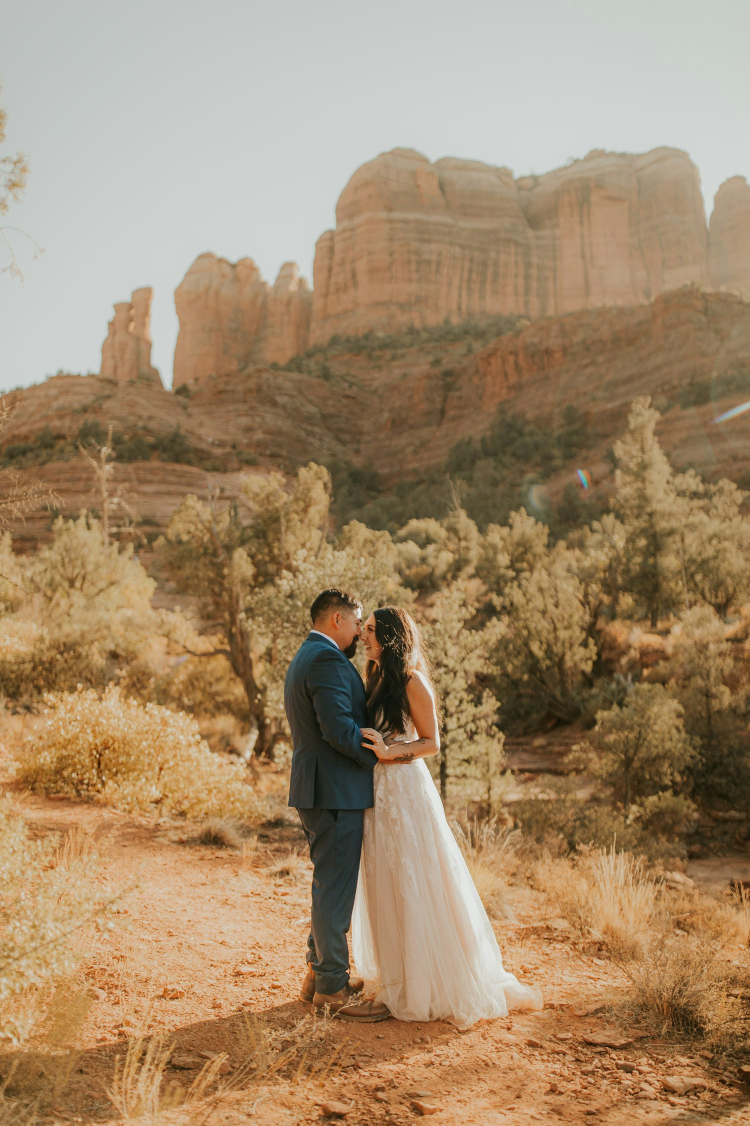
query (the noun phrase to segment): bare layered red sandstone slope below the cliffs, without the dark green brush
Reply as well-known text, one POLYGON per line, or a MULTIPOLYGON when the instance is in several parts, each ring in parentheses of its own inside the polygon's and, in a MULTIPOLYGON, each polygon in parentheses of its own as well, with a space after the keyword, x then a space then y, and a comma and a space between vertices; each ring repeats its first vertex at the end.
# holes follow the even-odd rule
MULTIPOLYGON (((154 457, 116 467, 133 503, 163 527, 187 492, 207 495, 218 485, 232 497, 242 472, 291 473, 307 461, 372 467, 371 441, 356 438, 363 425, 377 432, 376 466, 387 488, 437 470, 459 439, 487 431, 500 403, 551 430, 567 405, 578 408, 590 419, 591 447, 576 464, 602 480, 611 471, 607 447, 622 434, 632 399, 650 394, 665 411, 660 439, 677 467, 695 465, 733 480, 750 472, 747 415, 713 423, 747 397, 737 377, 750 372, 750 304, 733 294, 689 287, 648 305, 542 319, 473 354, 463 340, 423 340, 397 351, 354 343, 328 355, 326 365, 325 377, 259 365, 251 378, 237 373, 198 384, 189 399, 97 376, 56 376, 3 396, 13 409, 0 456, 47 428, 66 440, 69 459, 21 463, 21 479, 42 477, 60 508, 74 512, 96 502, 91 475, 75 456, 82 419, 112 425, 125 437, 179 428, 196 464, 154 457), (707 391, 697 396, 703 405, 679 406, 692 384, 707 391)), ((573 472, 568 466, 550 482, 550 495, 573 472)), ((13 535, 29 545, 48 529, 49 515, 42 511, 13 535)))

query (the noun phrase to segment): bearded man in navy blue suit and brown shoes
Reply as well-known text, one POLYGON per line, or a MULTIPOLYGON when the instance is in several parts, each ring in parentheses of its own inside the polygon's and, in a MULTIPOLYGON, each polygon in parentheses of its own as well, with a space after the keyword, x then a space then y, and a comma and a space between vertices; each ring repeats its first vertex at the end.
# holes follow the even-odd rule
POLYGON ((300 1000, 344 1020, 385 1020, 386 1006, 363 1000, 362 978, 350 977, 346 945, 378 761, 362 745, 364 686, 349 662, 362 634, 362 604, 346 591, 324 590, 310 617, 313 628, 283 686, 293 744, 289 805, 299 813, 313 861, 313 926, 300 1000))

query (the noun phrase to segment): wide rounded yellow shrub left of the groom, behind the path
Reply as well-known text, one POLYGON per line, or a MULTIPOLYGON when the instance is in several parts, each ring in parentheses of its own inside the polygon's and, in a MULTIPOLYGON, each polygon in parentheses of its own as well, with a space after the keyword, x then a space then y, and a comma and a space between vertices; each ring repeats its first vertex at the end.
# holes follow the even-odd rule
POLYGON ((20 775, 40 793, 187 817, 256 815, 245 769, 214 756, 190 716, 110 686, 48 696, 20 775))

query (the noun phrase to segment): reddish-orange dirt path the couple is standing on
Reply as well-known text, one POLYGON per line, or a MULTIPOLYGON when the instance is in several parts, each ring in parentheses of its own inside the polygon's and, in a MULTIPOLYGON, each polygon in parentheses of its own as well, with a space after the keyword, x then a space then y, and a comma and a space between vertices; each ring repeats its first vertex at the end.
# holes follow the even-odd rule
MULTIPOLYGON (((543 1012, 481 1022, 468 1033, 396 1020, 354 1027, 308 1019, 300 1027, 309 875, 293 861, 291 874, 272 874, 274 866, 283 869, 291 849, 301 849, 296 826, 261 833, 254 856, 243 860, 188 842, 174 823, 154 825, 67 801, 19 795, 18 804, 37 832, 76 823, 98 835, 115 831, 106 878, 112 886, 137 883, 121 917, 127 929, 98 937, 87 963, 89 985, 101 992, 49 1124, 112 1120, 103 1092, 115 1058, 128 1037, 156 1033, 169 1034, 178 1055, 228 1054, 233 1070, 225 1081, 237 1089, 215 1105, 208 1126, 326 1120, 326 1100, 353 1103, 349 1124, 401 1124, 418 1117, 415 1099, 439 1108, 435 1121, 462 1126, 750 1123, 747 1088, 722 1079, 705 1058, 638 1029, 633 1045, 620 1052, 585 1044, 582 1036, 613 1020, 576 1017, 570 1006, 615 999, 624 983, 590 947, 586 953, 575 944, 560 920, 544 918, 531 892, 518 892, 514 920, 498 923, 497 932, 508 968, 544 989, 543 1012), (255 1079, 243 1064, 263 1035, 263 1067, 278 1072, 255 1079), (704 1085, 685 1098, 669 1096, 661 1085, 668 1075, 704 1085)), ((195 1074, 169 1070, 182 1087, 195 1074)))

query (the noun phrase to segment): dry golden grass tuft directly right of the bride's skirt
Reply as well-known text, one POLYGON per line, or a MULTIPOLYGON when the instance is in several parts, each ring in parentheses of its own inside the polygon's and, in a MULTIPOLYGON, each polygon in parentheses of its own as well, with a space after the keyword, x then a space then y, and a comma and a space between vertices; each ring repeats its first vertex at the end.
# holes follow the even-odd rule
POLYGON ((466 828, 453 821, 451 829, 488 914, 510 918, 508 888, 518 867, 521 834, 495 816, 475 819, 466 828))

